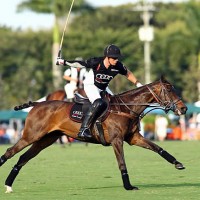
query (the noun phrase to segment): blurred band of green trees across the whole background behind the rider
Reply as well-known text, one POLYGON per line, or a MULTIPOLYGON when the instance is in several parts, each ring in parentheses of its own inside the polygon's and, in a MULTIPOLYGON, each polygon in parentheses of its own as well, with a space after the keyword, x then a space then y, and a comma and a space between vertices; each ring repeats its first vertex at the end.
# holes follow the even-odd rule
MULTIPOLYGON (((140 13, 130 10, 131 6, 100 7, 89 13, 73 15, 63 43, 63 57, 74 59, 82 56, 87 59, 101 56, 104 47, 114 43, 122 50, 123 63, 144 82, 143 43, 138 38, 142 20, 140 13)), ((152 80, 164 74, 180 89, 184 100, 197 101, 200 3, 157 3, 155 6, 158 12, 154 13, 151 21, 155 27, 151 49, 152 80)), ((65 18, 58 17, 59 27, 65 18)), ((53 90, 49 60, 51 37, 51 30, 34 32, 0 28, 0 108, 12 108, 29 99, 36 100, 53 90)), ((110 86, 115 93, 132 87, 121 76, 116 77, 110 86)))

